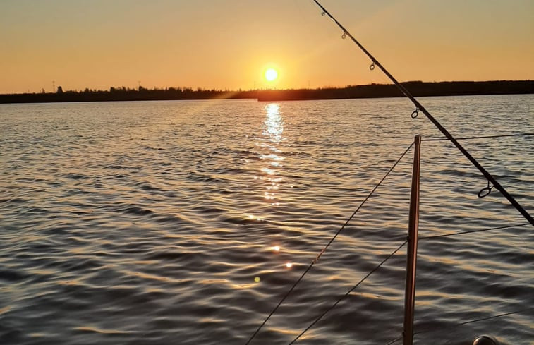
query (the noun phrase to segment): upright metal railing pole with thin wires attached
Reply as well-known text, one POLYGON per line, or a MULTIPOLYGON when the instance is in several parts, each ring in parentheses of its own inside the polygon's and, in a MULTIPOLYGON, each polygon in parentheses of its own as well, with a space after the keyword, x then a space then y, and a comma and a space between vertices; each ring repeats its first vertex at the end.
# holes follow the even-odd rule
POLYGON ((413 153, 410 215, 408 218, 408 253, 406 258, 406 292, 404 294, 403 345, 413 344, 413 313, 415 308, 415 266, 417 265, 417 236, 419 229, 419 167, 421 136, 415 135, 413 153))

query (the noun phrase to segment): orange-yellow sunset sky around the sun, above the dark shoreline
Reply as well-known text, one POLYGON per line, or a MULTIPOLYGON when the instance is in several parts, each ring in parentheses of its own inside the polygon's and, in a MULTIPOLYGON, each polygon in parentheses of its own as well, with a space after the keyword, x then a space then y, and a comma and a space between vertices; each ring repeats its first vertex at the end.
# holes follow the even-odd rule
MULTIPOLYGON (((399 81, 534 79, 533 0, 321 2, 399 81)), ((0 0, 0 93, 389 83, 342 33, 312 0, 0 0)))

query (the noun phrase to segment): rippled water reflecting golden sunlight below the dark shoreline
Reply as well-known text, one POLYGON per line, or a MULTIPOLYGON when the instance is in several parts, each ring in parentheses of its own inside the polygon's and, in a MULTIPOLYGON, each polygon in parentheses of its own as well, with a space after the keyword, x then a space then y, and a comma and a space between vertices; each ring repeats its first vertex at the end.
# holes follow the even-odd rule
MULTIPOLYGON (((433 97, 456 136, 534 133, 534 96, 433 97)), ((415 134, 406 99, 0 105, 1 344, 245 344, 415 134), (279 246, 280 250, 274 250, 279 246), (286 267, 291 263, 292 267, 286 267)), ((464 140, 534 211, 534 137, 464 140)), ((420 236, 525 219, 446 142, 420 236)), ((252 344, 289 344, 403 242, 412 151, 252 344)), ((421 241, 416 344, 534 344, 531 226, 421 241)), ((297 344, 401 334, 406 248, 297 344)), ((397 343, 398 344, 398 343, 397 343)))

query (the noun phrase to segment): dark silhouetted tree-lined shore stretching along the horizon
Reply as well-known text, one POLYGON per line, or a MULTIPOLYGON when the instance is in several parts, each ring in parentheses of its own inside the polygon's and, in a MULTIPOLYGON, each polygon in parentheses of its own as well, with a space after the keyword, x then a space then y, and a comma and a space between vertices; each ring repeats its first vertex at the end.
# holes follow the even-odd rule
MULTIPOLYGON (((459 95, 511 95, 534 93, 534 80, 452 81, 425 83, 410 81, 402 83, 415 97, 459 95)), ((324 87, 319 89, 291 90, 205 90, 190 87, 167 87, 165 89, 138 89, 110 87, 109 90, 63 90, 57 92, 21 93, 0 95, 0 103, 42 102, 103 102, 103 101, 154 101, 174 99, 257 99, 258 101, 285 101, 308 99, 347 99, 403 97, 392 84, 348 85, 347 87, 324 87)))

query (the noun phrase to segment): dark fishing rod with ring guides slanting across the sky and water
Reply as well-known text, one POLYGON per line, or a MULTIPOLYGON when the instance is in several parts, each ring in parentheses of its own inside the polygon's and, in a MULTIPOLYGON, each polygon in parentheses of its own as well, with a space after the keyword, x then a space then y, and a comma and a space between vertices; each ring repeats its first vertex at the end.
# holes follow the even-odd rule
POLYGON ((439 123, 439 121, 437 121, 435 117, 432 116, 432 114, 430 114, 430 112, 427 111, 427 109, 425 109, 425 107, 423 107, 423 105, 420 104, 419 101, 415 99, 415 97, 413 97, 413 95, 411 95, 411 93, 408 90, 406 90, 406 87, 404 87, 401 83, 399 83, 394 78, 394 76, 391 73, 389 73, 389 71, 387 71, 387 69, 384 68, 384 66, 382 66, 382 63, 380 63, 377 59, 375 59, 375 56, 372 56, 372 54, 368 52, 368 50, 365 49, 365 47, 363 47, 363 45, 360 44, 360 42, 358 42, 358 40, 356 40, 356 38, 354 38, 353 35, 351 35, 351 32, 348 32, 348 30, 346 30, 346 28, 343 25, 341 25, 341 23, 339 23, 339 21, 337 21, 336 18, 334 18, 334 16, 332 16, 332 14, 330 14, 329 11, 327 11, 327 9, 324 8, 324 6, 322 6, 322 4, 320 4, 319 1, 317 0, 313 0, 313 1, 315 2, 315 4, 317 4, 317 6, 321 8, 322 16, 328 16, 330 19, 334 21, 334 23, 336 23, 337 26, 339 26, 339 28, 341 28, 341 30, 343 30, 343 35, 341 35, 341 38, 346 38, 347 36, 350 37, 352 42, 354 42, 362 50, 362 52, 364 52, 365 55, 367 55, 369 59, 371 59, 372 64, 369 66, 370 70, 374 70, 375 66, 380 68, 380 71, 382 71, 382 73, 387 75, 387 78, 389 78, 389 80, 392 80, 392 82, 403 93, 403 95, 405 95, 406 97, 408 97, 408 99, 411 100, 413 105, 415 105, 415 110, 411 114, 411 117, 415 119, 417 115, 419 114, 419 111, 425 114, 425 116, 427 116, 427 119, 429 119, 430 122, 432 122, 434 126, 436 126, 437 129, 439 129, 439 131, 441 131, 443 135, 445 135, 445 137, 449 139, 451 143, 453 143, 454 146, 456 146, 456 148, 458 148, 458 150, 460 150, 460 152, 467 159, 471 161, 471 163, 473 163, 473 165, 478 169, 478 171, 480 171, 480 173, 483 174, 483 176, 487 179, 487 187, 480 190, 480 192, 478 193, 478 196, 480 198, 483 198, 486 195, 490 194, 492 188, 496 188, 497 190, 499 190, 499 192, 502 193, 502 195, 504 195, 506 199, 508 199, 511 205, 514 206, 516 210, 518 210, 519 213, 521 213, 523 217, 525 217, 525 219, 528 220, 528 222, 532 226, 534 226, 533 217, 531 217, 530 214, 528 214, 528 212, 519 204, 519 202, 517 202, 516 199, 514 199, 514 197, 511 196, 506 191, 506 189, 504 189, 504 187, 501 186, 501 184, 489 172, 487 172, 486 169, 484 169, 482 165, 480 165, 480 163, 478 163, 475 157, 471 156, 471 154, 465 148, 463 148, 463 146, 458 141, 456 141, 456 139, 451 135, 451 133, 449 133, 449 131, 447 131, 447 129, 444 128, 444 126, 442 126, 442 124, 439 123), (490 183, 492 184, 492 186, 490 186, 490 183))

